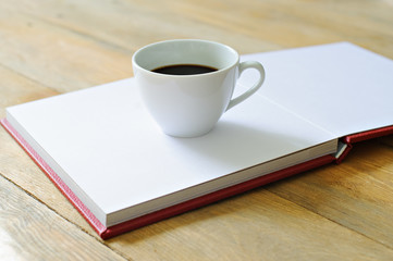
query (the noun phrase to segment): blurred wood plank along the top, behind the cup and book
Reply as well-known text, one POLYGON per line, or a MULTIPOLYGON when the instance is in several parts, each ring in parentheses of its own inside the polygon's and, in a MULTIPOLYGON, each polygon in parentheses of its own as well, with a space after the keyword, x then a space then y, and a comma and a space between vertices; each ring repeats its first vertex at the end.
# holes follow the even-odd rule
POLYGON ((349 40, 376 51, 383 48, 385 55, 393 57, 389 45, 379 41, 392 39, 393 7, 383 2, 364 0, 355 7, 334 1, 247 1, 246 5, 233 0, 165 1, 158 10, 156 1, 136 5, 134 1, 102 0, 94 12, 88 3, 76 0, 13 7, 132 51, 162 39, 204 36, 226 42, 241 53, 349 40))

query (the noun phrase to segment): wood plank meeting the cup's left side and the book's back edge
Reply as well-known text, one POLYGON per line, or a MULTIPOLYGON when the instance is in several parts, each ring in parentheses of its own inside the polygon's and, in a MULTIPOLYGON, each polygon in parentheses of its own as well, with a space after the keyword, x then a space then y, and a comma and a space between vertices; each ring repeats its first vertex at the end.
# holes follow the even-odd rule
POLYGON ((11 2, 0 3, 0 63, 59 92, 132 75, 132 53, 49 24, 11 2))

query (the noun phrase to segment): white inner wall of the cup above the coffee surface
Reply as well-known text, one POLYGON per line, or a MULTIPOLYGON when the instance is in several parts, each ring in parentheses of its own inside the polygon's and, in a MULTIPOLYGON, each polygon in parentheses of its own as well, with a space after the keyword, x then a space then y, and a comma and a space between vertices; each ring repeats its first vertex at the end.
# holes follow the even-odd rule
POLYGON ((134 54, 134 62, 148 71, 174 64, 197 64, 224 70, 237 61, 237 52, 225 45, 192 39, 152 44, 134 54))

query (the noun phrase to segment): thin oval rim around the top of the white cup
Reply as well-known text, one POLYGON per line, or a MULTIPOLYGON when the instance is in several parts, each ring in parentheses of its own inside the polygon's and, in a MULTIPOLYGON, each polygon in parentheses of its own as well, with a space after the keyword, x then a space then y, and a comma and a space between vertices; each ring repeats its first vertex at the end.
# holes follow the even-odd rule
MULTIPOLYGON (((213 74, 218 74, 218 73, 221 73, 223 71, 228 71, 230 69, 232 69, 234 65, 236 65, 238 62, 240 62, 240 55, 237 53, 237 51, 235 49, 233 49, 232 47, 228 46, 228 45, 224 45, 224 44, 221 44, 221 42, 218 42, 218 41, 211 41, 211 40, 204 40, 204 39, 171 39, 171 40, 162 40, 162 41, 157 41, 157 42, 152 42, 152 44, 149 44, 149 45, 146 45, 142 48, 139 48, 138 50, 136 50, 132 57, 132 62, 133 62, 133 65, 138 67, 139 70, 148 73, 148 74, 151 74, 151 75, 156 75, 156 76, 162 76, 162 77, 202 77, 204 75, 213 75, 213 74), (222 69, 219 69, 214 72, 209 72, 209 73, 204 73, 204 74, 189 74, 189 75, 174 75, 174 74, 161 74, 161 73, 156 73, 156 72, 152 72, 148 69, 145 69, 143 67, 142 65, 139 65, 137 62, 136 62, 136 57, 142 53, 143 51, 145 51, 146 49, 149 49, 149 48, 152 48, 155 46, 159 46, 159 45, 162 45, 162 44, 168 44, 168 42, 192 42, 192 41, 195 41, 195 42, 205 42, 205 44, 209 44, 209 45, 216 45, 216 46, 221 46, 221 47, 224 47, 225 49, 228 49, 229 51, 231 51, 232 53, 234 53, 236 55, 236 59, 235 59, 235 62, 231 63, 230 65, 228 66, 224 66, 222 69)), ((135 72, 134 72, 135 74, 135 72)))

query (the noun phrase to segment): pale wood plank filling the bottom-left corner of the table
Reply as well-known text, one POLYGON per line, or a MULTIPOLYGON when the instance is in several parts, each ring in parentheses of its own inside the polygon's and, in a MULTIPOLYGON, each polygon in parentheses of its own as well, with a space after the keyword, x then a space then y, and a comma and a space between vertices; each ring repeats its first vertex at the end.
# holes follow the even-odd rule
POLYGON ((0 175, 1 260, 125 260, 0 175))

